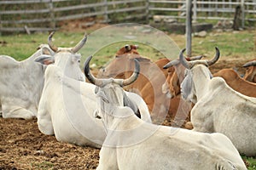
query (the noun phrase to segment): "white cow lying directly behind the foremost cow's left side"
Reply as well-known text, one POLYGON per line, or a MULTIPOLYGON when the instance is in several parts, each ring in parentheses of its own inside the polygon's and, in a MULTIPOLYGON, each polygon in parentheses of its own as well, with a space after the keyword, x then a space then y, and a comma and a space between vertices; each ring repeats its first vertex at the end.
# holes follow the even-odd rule
MULTIPOLYGON (((78 81, 80 73, 73 71, 74 68, 70 66, 75 55, 72 50, 58 48, 55 51, 55 65, 49 65, 45 71, 44 89, 38 108, 39 130, 44 134, 55 134, 58 141, 100 148, 106 132, 102 121, 93 116, 96 111, 96 86, 78 81), (57 54, 61 61, 62 54, 66 54, 65 65, 56 62, 57 54)), ((50 58, 42 56, 38 60, 47 59, 50 58)), ((76 59, 79 68, 79 58, 76 59)), ((143 120, 151 122, 148 107, 137 94, 127 93, 125 101, 131 108, 138 110, 143 120)))

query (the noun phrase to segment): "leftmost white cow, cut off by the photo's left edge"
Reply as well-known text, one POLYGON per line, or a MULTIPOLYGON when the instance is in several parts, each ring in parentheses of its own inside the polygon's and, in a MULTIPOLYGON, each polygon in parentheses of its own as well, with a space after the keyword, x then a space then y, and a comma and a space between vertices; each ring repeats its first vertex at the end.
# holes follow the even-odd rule
POLYGON ((44 87, 44 66, 34 62, 39 55, 54 52, 42 44, 31 57, 22 61, 0 55, 0 112, 3 118, 30 119, 37 116, 44 87))

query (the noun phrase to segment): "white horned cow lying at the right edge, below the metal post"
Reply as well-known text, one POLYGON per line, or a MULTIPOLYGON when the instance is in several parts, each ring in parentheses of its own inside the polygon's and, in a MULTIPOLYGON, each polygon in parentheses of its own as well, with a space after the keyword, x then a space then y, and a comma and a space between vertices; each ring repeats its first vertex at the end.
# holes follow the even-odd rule
POLYGON ((230 88, 223 78, 213 77, 207 68, 212 60, 180 60, 188 69, 181 84, 183 98, 195 103, 191 122, 195 131, 224 133, 241 154, 256 156, 256 98, 240 94, 230 88))

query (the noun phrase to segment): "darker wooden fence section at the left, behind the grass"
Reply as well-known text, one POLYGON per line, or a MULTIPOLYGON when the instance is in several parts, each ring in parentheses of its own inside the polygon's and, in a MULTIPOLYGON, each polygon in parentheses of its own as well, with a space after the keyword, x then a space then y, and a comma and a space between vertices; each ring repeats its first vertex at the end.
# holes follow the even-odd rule
POLYGON ((102 22, 141 19, 147 8, 145 0, 0 1, 0 32, 50 31, 63 20, 88 17, 102 22))

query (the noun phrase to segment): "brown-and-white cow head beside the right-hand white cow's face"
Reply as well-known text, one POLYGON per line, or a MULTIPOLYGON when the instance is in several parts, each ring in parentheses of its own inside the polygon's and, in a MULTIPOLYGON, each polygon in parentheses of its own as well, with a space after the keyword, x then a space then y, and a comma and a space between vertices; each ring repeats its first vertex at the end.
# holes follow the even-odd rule
MULTIPOLYGON (((186 59, 196 60, 201 58, 202 56, 195 56, 186 59)), ((166 64, 163 68, 168 70, 168 75, 166 82, 162 85, 162 93, 172 99, 180 94, 180 83, 183 82, 184 79, 184 67, 181 65, 179 59, 175 59, 166 64)))

